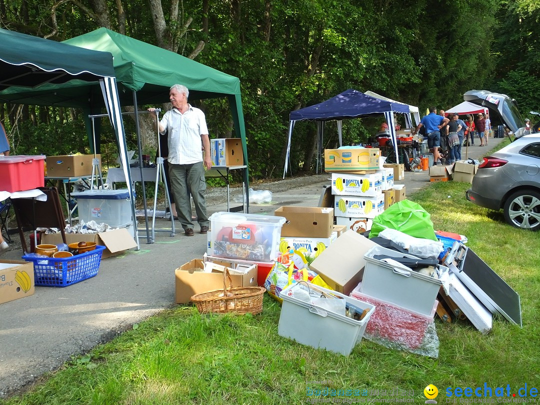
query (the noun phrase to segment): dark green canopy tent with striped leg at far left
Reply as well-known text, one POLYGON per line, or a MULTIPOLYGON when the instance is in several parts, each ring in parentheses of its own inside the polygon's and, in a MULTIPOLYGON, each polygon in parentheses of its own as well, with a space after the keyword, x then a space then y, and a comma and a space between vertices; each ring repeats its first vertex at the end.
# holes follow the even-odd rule
MULTIPOLYGON (((36 87, 47 84, 62 89, 73 79, 96 88, 96 103, 105 106, 116 133, 124 174, 131 179, 127 164, 124 124, 118 103, 112 55, 62 44, 49 39, 32 37, 0 29, 0 101, 44 105, 33 95, 36 87), (23 90, 24 100, 16 100, 12 90, 23 90), (6 96, 7 95, 7 96, 6 96)), ((89 99, 86 99, 86 104, 89 99)), ((47 104, 45 104, 47 105, 47 104)), ((129 181, 131 193, 131 181, 129 181)), ((133 225, 136 226, 135 205, 131 198, 133 225)), ((137 248, 139 242, 137 238, 137 248)))

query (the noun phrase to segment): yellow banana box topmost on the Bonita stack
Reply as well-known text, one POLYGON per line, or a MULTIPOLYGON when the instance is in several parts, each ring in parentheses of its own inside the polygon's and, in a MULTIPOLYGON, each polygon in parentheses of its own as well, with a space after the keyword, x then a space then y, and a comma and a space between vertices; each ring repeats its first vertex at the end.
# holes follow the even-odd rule
POLYGON ((325 170, 344 172, 350 170, 376 170, 379 168, 379 148, 325 149, 325 170))

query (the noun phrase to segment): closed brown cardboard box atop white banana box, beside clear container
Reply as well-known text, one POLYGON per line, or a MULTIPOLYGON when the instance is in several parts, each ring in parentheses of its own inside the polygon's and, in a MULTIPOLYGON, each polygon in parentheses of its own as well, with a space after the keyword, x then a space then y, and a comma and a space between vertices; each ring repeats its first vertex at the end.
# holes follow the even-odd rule
POLYGON ((287 220, 281 227, 282 237, 329 238, 334 231, 333 208, 283 206, 274 215, 287 220))

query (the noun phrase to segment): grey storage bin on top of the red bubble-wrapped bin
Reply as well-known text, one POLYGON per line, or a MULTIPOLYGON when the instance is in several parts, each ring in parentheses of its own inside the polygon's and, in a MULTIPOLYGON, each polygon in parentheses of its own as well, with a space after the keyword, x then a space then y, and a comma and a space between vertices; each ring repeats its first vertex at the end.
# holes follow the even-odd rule
POLYGON ((431 316, 433 303, 437 299, 437 293, 442 285, 441 280, 417 273, 414 270, 406 271, 395 268, 386 262, 373 259, 375 255, 379 254, 421 260, 413 255, 396 252, 382 246, 372 247, 364 256, 366 267, 360 292, 409 311, 431 316))

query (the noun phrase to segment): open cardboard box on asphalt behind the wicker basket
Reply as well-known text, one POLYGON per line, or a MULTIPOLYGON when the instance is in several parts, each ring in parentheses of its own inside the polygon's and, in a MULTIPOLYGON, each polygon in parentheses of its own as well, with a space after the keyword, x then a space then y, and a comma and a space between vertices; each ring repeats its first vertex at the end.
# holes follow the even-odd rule
MULTIPOLYGON (((193 259, 174 271, 176 285, 176 303, 188 303, 195 294, 223 288, 224 266, 214 264, 212 272, 203 271, 204 261, 193 259)), ((246 274, 231 272, 233 288, 257 287, 257 267, 252 265, 246 274)))

